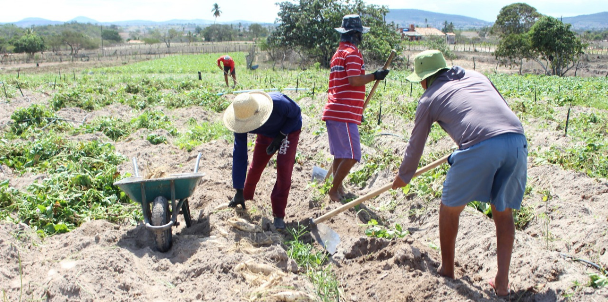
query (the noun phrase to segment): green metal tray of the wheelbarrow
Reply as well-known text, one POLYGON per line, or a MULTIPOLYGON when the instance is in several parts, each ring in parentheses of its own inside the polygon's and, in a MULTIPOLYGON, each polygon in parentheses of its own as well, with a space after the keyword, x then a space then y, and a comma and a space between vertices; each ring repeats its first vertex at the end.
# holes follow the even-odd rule
POLYGON ((114 186, 123 190, 131 200, 142 204, 144 198, 146 203, 151 203, 156 196, 164 196, 171 200, 171 181, 173 181, 175 186, 174 198, 183 200, 192 195, 202 176, 205 176, 205 173, 178 173, 150 179, 141 176, 129 177, 117 181, 114 186), (145 191, 144 198, 142 198, 142 184, 145 191))

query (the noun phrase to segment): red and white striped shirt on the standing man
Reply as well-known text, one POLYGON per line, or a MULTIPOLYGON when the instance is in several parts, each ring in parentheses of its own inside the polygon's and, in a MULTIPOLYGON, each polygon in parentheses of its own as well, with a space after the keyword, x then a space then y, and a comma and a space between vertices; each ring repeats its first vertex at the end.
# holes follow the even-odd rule
POLYGON ((361 124, 365 86, 353 87, 348 77, 365 75, 365 63, 359 49, 351 42, 340 42, 330 63, 330 87, 323 107, 323 121, 361 124))

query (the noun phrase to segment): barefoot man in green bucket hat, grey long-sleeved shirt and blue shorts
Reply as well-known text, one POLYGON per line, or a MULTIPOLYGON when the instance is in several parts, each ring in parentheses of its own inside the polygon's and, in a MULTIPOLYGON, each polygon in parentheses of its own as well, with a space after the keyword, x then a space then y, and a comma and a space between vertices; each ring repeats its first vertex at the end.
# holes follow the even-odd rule
POLYGON ((418 53, 414 64, 407 79, 420 82, 426 91, 418 102, 412 136, 392 187, 404 187, 412 180, 430 127, 437 122, 458 144, 447 159, 451 167, 443 183, 438 273, 454 278, 460 212, 471 201, 489 202, 496 225, 498 270, 488 283, 496 295, 508 295, 515 239, 512 210, 519 210, 526 187, 528 143, 522 123, 488 78, 447 66, 439 50, 418 53))

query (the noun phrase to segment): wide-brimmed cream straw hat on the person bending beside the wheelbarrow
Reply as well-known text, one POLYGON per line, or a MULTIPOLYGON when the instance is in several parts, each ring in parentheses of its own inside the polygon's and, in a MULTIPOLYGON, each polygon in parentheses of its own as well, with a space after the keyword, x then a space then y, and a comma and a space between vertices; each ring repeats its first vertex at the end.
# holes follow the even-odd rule
POLYGON ((258 129, 272 113, 272 98, 266 92, 241 93, 224 112, 224 125, 235 133, 258 129))

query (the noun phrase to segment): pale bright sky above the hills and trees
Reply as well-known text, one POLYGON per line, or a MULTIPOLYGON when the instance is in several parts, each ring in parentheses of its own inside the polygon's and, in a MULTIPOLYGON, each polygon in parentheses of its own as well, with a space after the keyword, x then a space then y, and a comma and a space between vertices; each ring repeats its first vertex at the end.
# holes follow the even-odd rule
MULTIPOLYGON (((170 19, 212 20, 213 3, 222 11, 218 21, 247 20, 274 22, 281 0, 0 0, 0 22, 16 22, 35 17, 69 21, 85 16, 100 22, 170 19), (27 5, 26 5, 27 4, 27 5)), ((485 21, 496 20, 500 8, 522 1, 502 0, 367 0, 368 4, 389 8, 416 8, 430 12, 463 15, 485 21)), ((608 0, 534 0, 525 3, 544 14, 568 17, 607 12, 608 0)))

